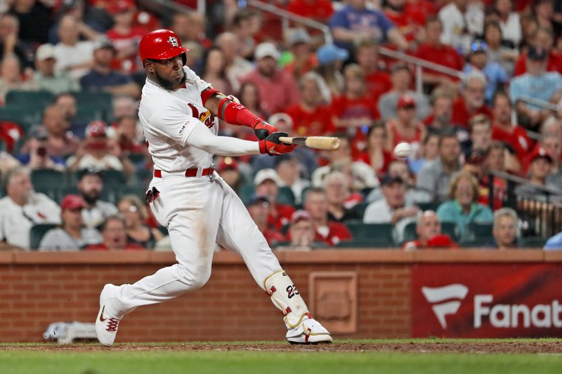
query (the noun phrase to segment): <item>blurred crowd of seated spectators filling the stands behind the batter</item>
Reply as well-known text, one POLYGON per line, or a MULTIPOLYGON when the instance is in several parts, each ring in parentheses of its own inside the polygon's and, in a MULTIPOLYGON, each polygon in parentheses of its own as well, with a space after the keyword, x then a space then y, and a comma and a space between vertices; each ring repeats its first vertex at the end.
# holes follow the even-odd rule
POLYGON ((133 0, 2 1, 0 248, 170 250, 144 202, 152 161, 137 118, 138 42, 159 27, 202 79, 280 131, 341 139, 334 152, 216 157, 273 248, 518 248, 536 203, 561 227, 561 1, 268 2, 328 25, 334 43, 233 0, 207 1, 207 17, 133 0), (453 74, 417 77, 381 47, 453 74), (406 159, 393 156, 400 142, 406 159), (515 210, 502 173, 527 180, 515 210))

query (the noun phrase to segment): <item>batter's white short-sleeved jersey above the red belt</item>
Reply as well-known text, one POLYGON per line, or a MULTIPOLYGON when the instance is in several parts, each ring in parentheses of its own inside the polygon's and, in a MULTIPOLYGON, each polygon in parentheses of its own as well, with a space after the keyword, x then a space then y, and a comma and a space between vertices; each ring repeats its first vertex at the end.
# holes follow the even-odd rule
POLYGON ((203 106, 201 92, 211 84, 200 79, 189 67, 185 88, 166 91, 162 86, 146 80, 138 118, 148 142, 155 168, 185 171, 197 166, 210 166, 213 155, 196 147, 189 147, 187 139, 195 123, 201 121, 214 135, 218 133, 218 119, 203 106))

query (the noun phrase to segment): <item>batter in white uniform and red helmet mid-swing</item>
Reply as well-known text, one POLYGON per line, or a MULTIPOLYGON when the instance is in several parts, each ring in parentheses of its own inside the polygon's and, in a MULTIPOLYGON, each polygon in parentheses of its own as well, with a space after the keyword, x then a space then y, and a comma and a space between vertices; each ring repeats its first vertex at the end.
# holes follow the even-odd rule
POLYGON ((147 199, 168 228, 178 263, 137 281, 106 284, 96 333, 112 345, 119 321, 141 305, 164 302, 202 287, 211 275, 215 242, 239 253, 255 281, 284 314, 292 343, 332 342, 312 318, 299 291, 251 220, 233 189, 214 171, 213 154, 284 154, 277 129, 185 67, 187 48, 174 32, 143 36, 139 51, 147 74, 138 116, 155 163, 147 199), (218 118, 254 129, 257 142, 218 136, 218 118))

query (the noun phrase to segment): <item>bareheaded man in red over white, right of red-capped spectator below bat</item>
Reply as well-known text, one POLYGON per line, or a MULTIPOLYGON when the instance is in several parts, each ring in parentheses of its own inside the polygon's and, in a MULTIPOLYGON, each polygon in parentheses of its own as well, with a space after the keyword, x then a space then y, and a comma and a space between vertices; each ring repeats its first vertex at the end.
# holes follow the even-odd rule
POLYGON ((320 187, 308 189, 304 197, 304 209, 314 220, 315 241, 335 246, 340 241, 352 239, 351 232, 343 223, 328 220, 328 200, 324 189, 320 187))

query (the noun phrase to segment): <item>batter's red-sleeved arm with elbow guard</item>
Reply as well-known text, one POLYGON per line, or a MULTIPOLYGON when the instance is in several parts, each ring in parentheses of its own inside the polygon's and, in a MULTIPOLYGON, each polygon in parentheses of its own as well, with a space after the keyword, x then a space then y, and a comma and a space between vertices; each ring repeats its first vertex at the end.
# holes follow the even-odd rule
POLYGON ((247 107, 233 96, 226 96, 215 88, 209 87, 202 91, 201 99, 204 107, 212 114, 232 125, 247 126, 254 129, 256 137, 264 140, 277 128, 250 112, 247 107))

